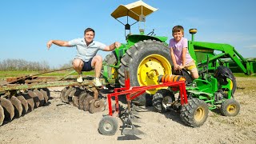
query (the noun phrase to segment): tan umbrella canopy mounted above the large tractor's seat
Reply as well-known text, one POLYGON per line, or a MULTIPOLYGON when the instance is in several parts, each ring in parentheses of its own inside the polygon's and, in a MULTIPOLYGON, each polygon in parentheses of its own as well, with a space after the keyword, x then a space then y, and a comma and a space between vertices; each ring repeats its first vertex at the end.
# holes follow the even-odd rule
POLYGON ((115 19, 121 18, 124 16, 129 16, 130 18, 134 18, 136 21, 139 21, 139 16, 142 14, 147 16, 158 9, 146 4, 145 2, 138 1, 133 2, 128 5, 120 5, 111 16, 115 19))

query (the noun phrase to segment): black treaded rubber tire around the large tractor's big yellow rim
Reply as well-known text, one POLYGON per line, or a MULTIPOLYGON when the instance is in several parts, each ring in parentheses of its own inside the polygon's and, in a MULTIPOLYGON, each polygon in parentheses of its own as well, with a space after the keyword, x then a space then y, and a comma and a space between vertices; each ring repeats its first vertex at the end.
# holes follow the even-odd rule
MULTIPOLYGON (((118 69, 118 82, 121 86, 125 86, 125 70, 130 69, 130 86, 140 86, 137 78, 138 65, 143 58, 151 54, 159 54, 167 58, 172 66, 172 61, 170 58, 170 49, 163 42, 158 42, 155 40, 144 40, 143 42, 137 42, 134 46, 131 46, 130 49, 126 50, 121 58, 121 64, 118 69)), ((146 95, 142 94, 139 97, 134 99, 134 104, 138 106, 150 105, 152 104, 151 97, 146 101, 146 95)))

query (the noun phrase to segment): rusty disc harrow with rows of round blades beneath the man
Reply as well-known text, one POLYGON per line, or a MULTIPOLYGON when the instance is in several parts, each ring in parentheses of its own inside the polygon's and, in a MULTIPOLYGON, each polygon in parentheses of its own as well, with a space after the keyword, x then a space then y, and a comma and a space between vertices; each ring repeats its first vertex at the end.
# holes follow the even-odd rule
MULTIPOLYGON (((58 70, 40 74, 54 71, 58 70)), ((70 74, 62 78, 38 77, 39 74, 6 78, 6 82, 0 84, 0 126, 38 107, 47 106, 50 100, 50 87, 65 86, 60 95, 62 102, 77 106, 81 110, 89 111, 91 114, 105 110, 105 101, 102 97, 98 98, 98 88, 94 86, 93 78, 86 77, 84 82, 78 83, 70 74)), ((103 79, 101 81, 106 84, 103 79)))

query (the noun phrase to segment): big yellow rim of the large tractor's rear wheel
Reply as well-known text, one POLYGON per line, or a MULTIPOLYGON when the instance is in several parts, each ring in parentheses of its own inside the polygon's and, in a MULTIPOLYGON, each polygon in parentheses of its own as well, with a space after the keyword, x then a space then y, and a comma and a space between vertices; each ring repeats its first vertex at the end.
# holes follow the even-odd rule
MULTIPOLYGON (((151 54, 144 58, 138 65, 138 83, 140 86, 158 85, 158 76, 164 74, 171 74, 170 62, 159 54, 151 54)), ((149 94, 155 94, 157 88, 154 90, 146 90, 149 94)))

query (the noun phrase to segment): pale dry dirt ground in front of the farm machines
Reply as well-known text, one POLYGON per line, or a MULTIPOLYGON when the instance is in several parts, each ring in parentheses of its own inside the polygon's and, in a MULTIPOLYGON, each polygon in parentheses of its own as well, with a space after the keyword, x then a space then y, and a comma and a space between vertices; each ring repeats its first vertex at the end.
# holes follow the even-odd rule
MULTIPOLYGON (((237 78, 234 97, 240 102, 240 114, 222 116, 210 111, 203 126, 186 126, 179 114, 154 112, 142 107, 139 130, 145 134, 125 136, 118 130, 114 136, 98 134, 102 114, 90 114, 61 102, 59 88, 50 89, 49 106, 39 107, 21 118, 0 126, 0 143, 256 143, 256 78, 237 78)), ((119 125, 122 125, 118 119, 119 125)))

